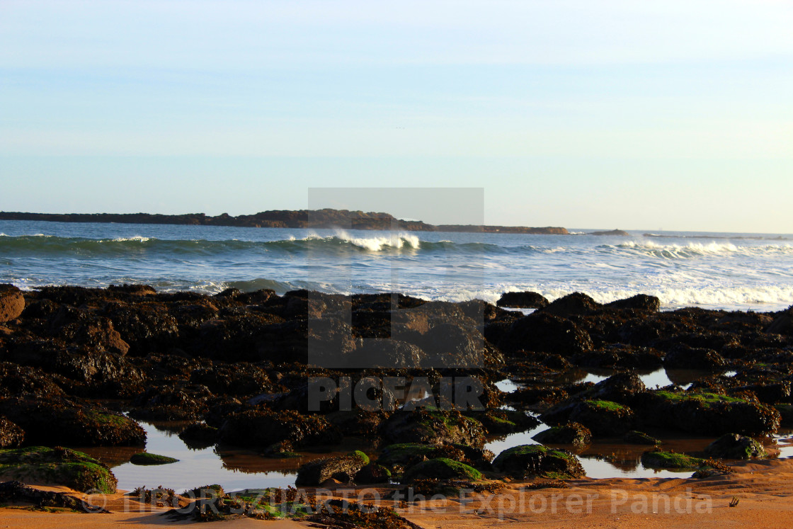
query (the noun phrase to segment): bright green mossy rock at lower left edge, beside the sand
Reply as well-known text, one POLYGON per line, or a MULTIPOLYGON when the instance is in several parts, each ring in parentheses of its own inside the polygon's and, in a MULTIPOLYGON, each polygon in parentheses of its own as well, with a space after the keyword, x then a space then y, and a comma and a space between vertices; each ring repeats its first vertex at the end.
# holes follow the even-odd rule
POLYGON ((63 485, 85 492, 116 492, 116 477, 90 456, 63 447, 0 450, 0 481, 13 479, 41 485, 63 485))

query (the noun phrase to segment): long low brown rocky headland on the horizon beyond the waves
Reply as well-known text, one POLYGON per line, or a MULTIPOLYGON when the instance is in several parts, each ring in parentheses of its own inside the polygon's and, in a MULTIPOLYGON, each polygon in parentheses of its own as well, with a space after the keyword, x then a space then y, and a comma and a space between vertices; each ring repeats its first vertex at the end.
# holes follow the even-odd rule
POLYGON ((212 217, 205 213, 159 215, 152 213, 18 213, 0 212, 0 220, 46 220, 50 222, 114 222, 118 224, 187 224, 195 226, 240 226, 244 228, 347 228, 368 230, 399 229, 408 232, 488 232, 567 235, 565 228, 487 226, 478 224, 427 224, 421 220, 401 220, 389 213, 364 213, 347 209, 299 209, 262 211, 232 217, 228 213, 212 217))

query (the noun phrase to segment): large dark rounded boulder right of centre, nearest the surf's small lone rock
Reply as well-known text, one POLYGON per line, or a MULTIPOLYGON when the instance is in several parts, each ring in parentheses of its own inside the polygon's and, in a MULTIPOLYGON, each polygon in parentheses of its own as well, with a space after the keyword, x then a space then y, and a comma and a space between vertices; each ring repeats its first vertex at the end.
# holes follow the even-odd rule
POLYGON ((498 345, 511 355, 518 351, 537 351, 573 356, 593 348, 592 338, 584 329, 571 320, 545 312, 535 312, 515 320, 498 345))

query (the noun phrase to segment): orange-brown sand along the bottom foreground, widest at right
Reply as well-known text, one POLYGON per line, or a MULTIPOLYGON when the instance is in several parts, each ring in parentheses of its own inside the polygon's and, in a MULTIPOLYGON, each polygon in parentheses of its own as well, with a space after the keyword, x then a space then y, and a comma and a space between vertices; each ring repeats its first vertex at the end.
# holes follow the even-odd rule
MULTIPOLYGON (((739 463, 735 472, 703 480, 580 479, 566 481, 567 489, 522 489, 512 482, 488 500, 487 496, 433 500, 419 512, 397 508, 406 519, 427 529, 454 527, 789 527, 793 520, 793 460, 760 460, 739 463), (737 499, 730 508, 730 500, 737 499), (510 508, 511 500, 518 507, 510 508), (499 505, 505 508, 499 509, 499 505), (520 505, 523 508, 520 508, 520 505), (431 508, 435 508, 433 512, 431 508), (445 512, 441 512, 445 511, 445 512)), ((63 490, 63 488, 57 488, 63 490)), ((334 496, 342 497, 347 487, 334 496)), ((385 491, 384 491, 385 492, 385 491)), ((160 516, 163 509, 141 512, 127 500, 132 512, 123 512, 125 498, 109 496, 111 514, 46 513, 0 509, 0 527, 162 527, 185 525, 160 516)), ((393 502, 384 501, 384 505, 393 502)), ((223 527, 310 527, 293 521, 263 522, 236 519, 223 527)))

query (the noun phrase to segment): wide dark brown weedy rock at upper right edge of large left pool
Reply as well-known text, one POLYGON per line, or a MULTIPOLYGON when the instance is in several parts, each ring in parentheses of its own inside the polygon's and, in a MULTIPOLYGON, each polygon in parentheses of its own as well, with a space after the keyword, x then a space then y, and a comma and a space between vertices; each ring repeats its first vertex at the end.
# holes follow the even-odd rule
POLYGON ((218 432, 220 443, 238 447, 268 447, 288 440, 295 447, 339 444, 339 428, 323 416, 304 416, 294 411, 251 409, 229 416, 218 432))

